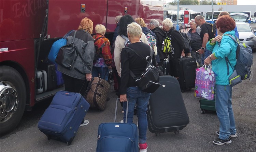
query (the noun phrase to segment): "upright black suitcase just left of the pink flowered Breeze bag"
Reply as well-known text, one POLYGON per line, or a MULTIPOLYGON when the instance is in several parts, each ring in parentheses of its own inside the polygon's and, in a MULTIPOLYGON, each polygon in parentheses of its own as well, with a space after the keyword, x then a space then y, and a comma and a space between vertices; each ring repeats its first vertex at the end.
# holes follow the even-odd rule
POLYGON ((195 58, 185 57, 174 60, 181 91, 195 87, 197 63, 195 58))

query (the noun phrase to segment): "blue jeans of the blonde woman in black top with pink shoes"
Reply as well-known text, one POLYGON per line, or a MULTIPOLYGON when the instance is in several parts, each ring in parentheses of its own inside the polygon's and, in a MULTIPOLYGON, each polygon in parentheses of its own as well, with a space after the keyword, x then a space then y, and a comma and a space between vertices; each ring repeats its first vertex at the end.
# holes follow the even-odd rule
MULTIPOLYGON (((128 116, 127 123, 132 123, 133 112, 135 104, 137 103, 137 117, 139 119, 139 143, 144 144, 146 142, 146 133, 147 133, 147 103, 150 98, 151 93, 146 93, 141 91, 138 87, 129 87, 126 91, 126 96, 129 98, 129 107, 128 107, 128 116)), ((126 117, 126 107, 127 102, 123 103, 124 107, 124 122, 126 117)))

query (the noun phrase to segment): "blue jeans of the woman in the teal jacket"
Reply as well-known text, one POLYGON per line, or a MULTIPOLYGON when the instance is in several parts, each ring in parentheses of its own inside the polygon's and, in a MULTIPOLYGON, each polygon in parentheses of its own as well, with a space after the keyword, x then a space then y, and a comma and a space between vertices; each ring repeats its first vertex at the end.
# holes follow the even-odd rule
POLYGON ((215 109, 219 119, 219 138, 228 139, 230 134, 236 134, 236 125, 232 109, 232 87, 215 85, 215 109))

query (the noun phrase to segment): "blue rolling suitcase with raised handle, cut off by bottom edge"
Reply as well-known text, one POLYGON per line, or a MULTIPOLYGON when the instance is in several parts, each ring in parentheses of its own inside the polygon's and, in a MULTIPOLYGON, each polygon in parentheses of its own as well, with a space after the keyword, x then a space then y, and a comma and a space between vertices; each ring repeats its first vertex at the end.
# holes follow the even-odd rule
MULTIPOLYGON (((114 122, 101 123, 98 130, 96 152, 138 152, 139 134, 134 123, 116 122, 117 103, 114 122)), ((126 121, 128 113, 128 99, 126 109, 126 121)))

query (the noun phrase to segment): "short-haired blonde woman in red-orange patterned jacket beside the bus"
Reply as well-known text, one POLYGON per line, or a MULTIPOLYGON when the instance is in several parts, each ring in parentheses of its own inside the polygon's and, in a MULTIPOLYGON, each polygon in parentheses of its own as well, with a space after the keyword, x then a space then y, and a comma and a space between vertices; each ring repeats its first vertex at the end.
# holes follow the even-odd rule
POLYGON ((102 79, 108 81, 108 69, 112 69, 112 55, 110 53, 109 39, 104 36, 106 27, 102 24, 98 24, 95 26, 95 32, 96 35, 94 35, 93 38, 97 59, 93 62, 93 77, 98 77, 100 74, 102 79))

